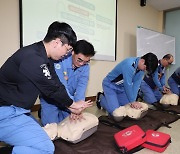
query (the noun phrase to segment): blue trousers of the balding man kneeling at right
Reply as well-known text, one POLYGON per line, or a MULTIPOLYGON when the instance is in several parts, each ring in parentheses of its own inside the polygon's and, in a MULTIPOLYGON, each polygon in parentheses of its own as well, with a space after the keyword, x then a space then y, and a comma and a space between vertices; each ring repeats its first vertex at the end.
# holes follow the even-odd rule
POLYGON ((143 100, 149 104, 160 101, 163 96, 158 88, 152 89, 144 80, 141 82, 140 89, 143 95, 143 100))

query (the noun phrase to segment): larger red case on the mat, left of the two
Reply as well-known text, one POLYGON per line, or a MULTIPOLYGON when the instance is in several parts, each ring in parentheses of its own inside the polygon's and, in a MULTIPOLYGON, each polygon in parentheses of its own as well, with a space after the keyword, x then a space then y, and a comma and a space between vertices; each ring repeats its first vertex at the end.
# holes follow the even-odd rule
POLYGON ((114 134, 116 144, 122 153, 144 143, 146 141, 145 136, 145 132, 138 125, 133 125, 114 134))

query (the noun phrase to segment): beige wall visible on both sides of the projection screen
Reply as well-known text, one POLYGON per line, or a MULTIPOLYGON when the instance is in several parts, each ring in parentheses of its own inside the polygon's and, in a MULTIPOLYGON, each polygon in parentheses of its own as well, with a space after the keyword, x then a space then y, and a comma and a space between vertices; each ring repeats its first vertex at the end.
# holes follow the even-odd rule
MULTIPOLYGON (((150 6, 141 7, 139 0, 117 0, 117 61, 92 61, 86 96, 102 90, 106 74, 124 58, 136 55, 136 27, 162 32, 163 13, 150 6)), ((0 65, 19 48, 19 0, 0 0, 0 65)), ((111 38, 109 38, 111 41, 111 38)))

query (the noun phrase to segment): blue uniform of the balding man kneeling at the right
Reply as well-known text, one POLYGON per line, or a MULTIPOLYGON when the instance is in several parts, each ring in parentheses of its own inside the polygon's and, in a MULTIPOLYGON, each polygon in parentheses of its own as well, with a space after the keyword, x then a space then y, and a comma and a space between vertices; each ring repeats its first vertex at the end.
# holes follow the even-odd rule
POLYGON ((158 67, 155 72, 144 77, 141 83, 140 89, 143 95, 143 100, 149 104, 158 102, 165 86, 165 67, 163 67, 159 61, 158 67))

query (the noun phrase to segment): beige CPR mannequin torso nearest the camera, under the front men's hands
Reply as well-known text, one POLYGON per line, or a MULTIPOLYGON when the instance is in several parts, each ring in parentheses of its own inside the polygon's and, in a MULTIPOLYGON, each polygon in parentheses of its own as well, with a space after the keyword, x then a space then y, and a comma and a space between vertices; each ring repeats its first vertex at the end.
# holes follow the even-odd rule
POLYGON ((59 124, 47 124, 43 129, 46 131, 51 140, 62 138, 72 143, 78 143, 90 135, 92 135, 98 126, 98 118, 91 114, 82 113, 84 119, 81 121, 71 122, 69 117, 66 117, 59 124))

